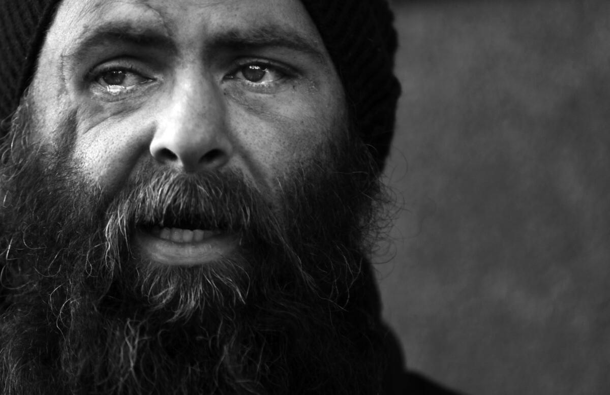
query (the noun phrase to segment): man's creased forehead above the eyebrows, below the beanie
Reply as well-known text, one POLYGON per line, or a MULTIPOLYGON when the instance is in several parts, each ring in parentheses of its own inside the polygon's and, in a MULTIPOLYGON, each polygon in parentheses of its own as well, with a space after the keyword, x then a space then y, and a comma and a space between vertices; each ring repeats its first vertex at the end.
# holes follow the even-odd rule
POLYGON ((99 30, 146 31, 186 46, 219 32, 276 32, 311 48, 323 48, 317 28, 299 0, 64 0, 46 47, 66 52, 99 30))

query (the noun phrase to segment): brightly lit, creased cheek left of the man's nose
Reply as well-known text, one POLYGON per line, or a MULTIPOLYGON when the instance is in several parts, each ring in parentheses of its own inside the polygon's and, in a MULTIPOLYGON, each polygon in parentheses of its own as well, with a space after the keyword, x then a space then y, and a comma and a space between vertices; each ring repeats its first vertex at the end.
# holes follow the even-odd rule
POLYGON ((37 109, 34 139, 52 152, 68 156, 68 165, 84 182, 117 190, 134 171, 152 133, 146 112, 108 109, 95 101, 50 97, 35 90, 37 109))

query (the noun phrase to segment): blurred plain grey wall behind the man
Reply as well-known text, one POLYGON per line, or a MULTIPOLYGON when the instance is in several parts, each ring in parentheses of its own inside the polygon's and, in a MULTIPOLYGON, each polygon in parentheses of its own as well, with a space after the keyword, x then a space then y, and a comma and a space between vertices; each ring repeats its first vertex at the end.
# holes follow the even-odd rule
POLYGON ((610 2, 397 4, 403 201, 377 266, 410 368, 610 394, 610 2))

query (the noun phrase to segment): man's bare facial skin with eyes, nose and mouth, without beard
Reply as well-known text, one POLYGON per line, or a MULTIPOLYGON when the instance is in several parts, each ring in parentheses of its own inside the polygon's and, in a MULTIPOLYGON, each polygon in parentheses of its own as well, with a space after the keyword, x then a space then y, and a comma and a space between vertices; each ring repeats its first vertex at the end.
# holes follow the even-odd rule
MULTIPOLYGON (((342 87, 298 0, 65 0, 32 99, 38 138, 71 140, 70 165, 106 194, 162 168, 234 171, 277 205, 285 174, 346 130, 342 87)), ((215 229, 140 230, 135 246, 162 265, 239 243, 215 229)))

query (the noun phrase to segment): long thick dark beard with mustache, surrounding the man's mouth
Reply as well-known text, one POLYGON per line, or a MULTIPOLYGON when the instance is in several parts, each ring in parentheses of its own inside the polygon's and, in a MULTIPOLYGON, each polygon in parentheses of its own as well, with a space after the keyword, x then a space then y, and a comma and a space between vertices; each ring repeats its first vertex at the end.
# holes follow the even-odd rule
POLYGON ((32 115, 26 102, 2 149, 3 393, 378 393, 364 146, 287 175, 281 207, 239 173, 138 174, 106 196, 69 165, 73 120, 51 152, 28 143, 32 115), (138 226, 185 218, 239 234, 239 251, 198 268, 131 251, 138 226))

